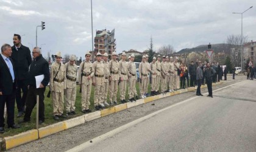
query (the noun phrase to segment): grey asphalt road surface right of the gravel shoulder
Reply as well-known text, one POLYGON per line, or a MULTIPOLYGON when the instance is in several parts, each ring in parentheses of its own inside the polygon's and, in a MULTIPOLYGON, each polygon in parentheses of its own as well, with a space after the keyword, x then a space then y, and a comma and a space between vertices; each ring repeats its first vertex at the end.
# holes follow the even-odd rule
POLYGON ((256 81, 191 97, 70 151, 256 151, 256 81))

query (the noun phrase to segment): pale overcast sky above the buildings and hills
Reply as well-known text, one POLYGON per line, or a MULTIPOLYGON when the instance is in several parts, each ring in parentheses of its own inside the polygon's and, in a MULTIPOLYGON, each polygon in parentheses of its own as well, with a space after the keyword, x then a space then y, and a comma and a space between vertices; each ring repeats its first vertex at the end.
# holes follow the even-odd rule
MULTIPOLYGON (((171 44, 179 51, 201 44, 222 43, 228 35, 243 34, 256 41, 255 0, 93 0, 93 36, 96 30, 115 29, 116 50, 149 47, 152 35, 154 49, 171 44)), ((22 36, 24 46, 35 46, 35 29, 46 22, 46 29, 38 28, 38 46, 43 56, 51 50, 75 54, 84 59, 91 50, 90 0, 0 0, 2 44, 13 45, 13 33, 22 36)))

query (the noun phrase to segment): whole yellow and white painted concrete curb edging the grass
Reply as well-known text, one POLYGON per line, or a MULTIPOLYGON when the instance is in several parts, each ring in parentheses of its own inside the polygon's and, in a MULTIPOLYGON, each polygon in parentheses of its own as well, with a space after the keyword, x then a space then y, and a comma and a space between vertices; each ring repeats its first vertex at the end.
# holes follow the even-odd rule
MULTIPOLYGON (((213 83, 213 86, 220 84, 222 84, 222 81, 218 83, 213 83)), ((24 133, 17 134, 15 136, 0 138, 0 150, 9 150, 10 148, 17 147, 24 143, 32 142, 34 140, 41 139, 43 137, 50 136, 55 133, 59 133, 60 131, 63 130, 68 130, 69 128, 73 128, 74 126, 82 125, 83 123, 90 122, 100 117, 108 116, 115 112, 132 108, 133 106, 153 102, 160 98, 165 98, 176 94, 194 91, 196 90, 196 88, 197 86, 186 89, 180 89, 174 92, 167 92, 166 94, 159 94, 147 98, 142 98, 140 100, 137 100, 136 102, 123 103, 120 105, 113 106, 112 108, 103 109, 102 111, 91 112, 83 116, 75 117, 73 119, 65 120, 63 122, 58 122, 49 126, 45 126, 43 128, 39 128, 38 130, 30 130, 24 133)), ((201 88, 207 88, 207 85, 202 85, 201 88)))

